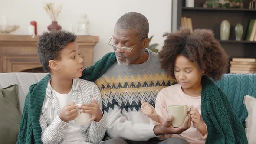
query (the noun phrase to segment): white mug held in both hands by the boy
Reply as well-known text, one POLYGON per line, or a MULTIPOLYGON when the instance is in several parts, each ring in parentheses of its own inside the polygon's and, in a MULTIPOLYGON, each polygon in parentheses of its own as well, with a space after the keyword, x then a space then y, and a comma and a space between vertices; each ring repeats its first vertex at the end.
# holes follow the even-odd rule
POLYGON ((81 104, 76 104, 77 108, 76 108, 76 118, 75 118, 75 124, 77 125, 87 125, 90 124, 92 121, 89 121, 92 118, 91 114, 87 114, 84 112, 80 112, 80 109, 78 109, 79 106, 81 106, 81 104))

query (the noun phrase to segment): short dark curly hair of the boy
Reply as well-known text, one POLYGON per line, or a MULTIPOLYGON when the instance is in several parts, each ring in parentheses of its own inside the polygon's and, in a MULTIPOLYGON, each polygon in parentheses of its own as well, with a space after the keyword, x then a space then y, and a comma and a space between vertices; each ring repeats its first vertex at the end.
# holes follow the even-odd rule
POLYGON ((37 54, 43 69, 46 72, 50 72, 49 61, 59 59, 59 51, 69 42, 74 42, 75 40, 76 36, 68 31, 51 30, 50 32, 43 32, 37 44, 37 54))

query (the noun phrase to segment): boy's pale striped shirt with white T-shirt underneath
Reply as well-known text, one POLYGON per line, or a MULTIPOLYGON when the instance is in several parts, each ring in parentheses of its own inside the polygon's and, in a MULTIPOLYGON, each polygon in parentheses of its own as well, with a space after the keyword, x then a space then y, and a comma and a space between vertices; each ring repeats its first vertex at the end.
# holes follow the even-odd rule
POLYGON ((92 121, 90 125, 74 127, 74 121, 68 121, 66 123, 61 121, 58 115, 63 105, 65 106, 70 102, 79 104, 91 103, 92 98, 98 101, 98 104, 102 110, 102 99, 97 85, 83 79, 74 79, 71 91, 69 94, 66 94, 69 95, 71 99, 65 100, 66 102, 63 101, 64 103, 59 103, 58 96, 56 96, 56 92, 54 92, 50 85, 50 79, 46 88, 46 96, 40 116, 42 142, 44 144, 59 144, 62 142, 65 142, 65 144, 80 144, 80 142, 81 144, 98 144, 101 142, 106 131, 104 116, 99 122, 92 121), (66 135, 70 134, 72 131, 80 131, 81 135, 75 136, 76 141, 73 141, 73 134, 72 136, 66 135))

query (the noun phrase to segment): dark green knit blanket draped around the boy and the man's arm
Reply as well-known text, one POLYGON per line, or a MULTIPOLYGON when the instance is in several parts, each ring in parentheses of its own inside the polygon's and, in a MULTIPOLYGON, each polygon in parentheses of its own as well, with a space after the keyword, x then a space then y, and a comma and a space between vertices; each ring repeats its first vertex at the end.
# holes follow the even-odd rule
MULTIPOLYGON (((108 53, 94 65, 85 68, 81 78, 93 82, 103 75, 115 62, 115 53, 108 53)), ((29 88, 20 120, 20 130, 17 144, 42 144, 42 129, 39 119, 43 101, 46 95, 45 93, 48 79, 49 74, 38 83, 31 85, 29 88)))

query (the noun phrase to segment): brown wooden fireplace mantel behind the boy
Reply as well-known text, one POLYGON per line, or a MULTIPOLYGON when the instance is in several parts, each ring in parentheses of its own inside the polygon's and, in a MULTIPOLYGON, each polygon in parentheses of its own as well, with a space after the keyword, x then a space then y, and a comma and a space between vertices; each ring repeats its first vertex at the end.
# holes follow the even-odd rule
MULTIPOLYGON (((77 36, 77 43, 84 58, 84 67, 93 64, 93 48, 98 36, 77 36)), ((38 36, 0 35, 0 73, 21 72, 41 67, 37 57, 38 36)))

